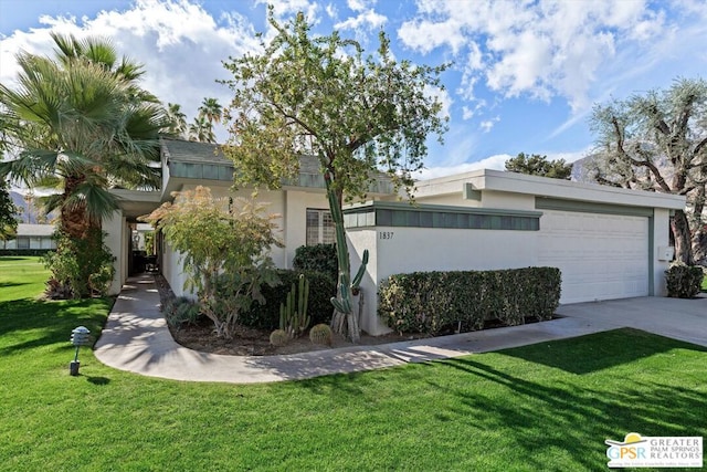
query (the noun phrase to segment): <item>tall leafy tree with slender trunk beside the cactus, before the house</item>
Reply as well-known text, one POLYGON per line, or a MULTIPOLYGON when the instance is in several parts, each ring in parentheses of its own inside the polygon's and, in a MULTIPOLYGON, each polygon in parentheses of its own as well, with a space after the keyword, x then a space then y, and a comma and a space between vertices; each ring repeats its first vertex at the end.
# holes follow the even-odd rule
POLYGON ((319 159, 337 235, 333 324, 356 342, 351 291, 360 277, 351 283, 341 204, 363 198, 381 172, 410 193, 428 135, 441 140, 446 129, 442 104, 431 94, 442 87, 445 66, 395 61, 382 32, 377 54, 365 56, 357 42, 336 31, 314 36, 302 13, 286 24, 275 21, 272 9, 268 17, 276 34, 262 43, 262 52, 224 63, 234 93, 224 151, 239 169, 236 185, 268 188, 294 177, 302 155, 319 159))

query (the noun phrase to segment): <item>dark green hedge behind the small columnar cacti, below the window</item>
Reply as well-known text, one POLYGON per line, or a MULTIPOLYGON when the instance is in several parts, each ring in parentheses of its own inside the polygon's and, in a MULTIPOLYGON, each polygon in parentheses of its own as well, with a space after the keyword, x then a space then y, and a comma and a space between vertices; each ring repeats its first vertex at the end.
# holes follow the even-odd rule
POLYGON ((329 324, 334 306, 330 298, 336 295, 336 283, 321 272, 309 271, 277 271, 281 284, 274 287, 264 285, 261 293, 265 297, 265 304, 253 303, 250 311, 242 313, 239 322, 244 326, 258 329, 279 328, 279 304, 285 302, 292 289, 293 282, 298 282, 299 274, 304 273, 309 281, 309 300, 307 313, 310 316, 309 326, 319 323, 329 324))

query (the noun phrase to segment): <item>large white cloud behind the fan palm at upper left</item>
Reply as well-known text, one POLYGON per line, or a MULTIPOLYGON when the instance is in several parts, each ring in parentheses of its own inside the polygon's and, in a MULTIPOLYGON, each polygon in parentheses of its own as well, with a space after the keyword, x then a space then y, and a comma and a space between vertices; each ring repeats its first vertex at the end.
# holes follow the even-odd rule
MULTIPOLYGON (((52 53, 50 31, 102 36, 112 40, 119 54, 145 65, 146 90, 165 103, 181 104, 190 118, 204 97, 229 103, 231 92, 215 83, 215 78, 228 78, 221 61, 258 48, 253 27, 239 13, 223 13, 217 22, 203 8, 184 0, 139 0, 122 12, 103 11, 81 20, 43 17, 41 23, 43 28, 0 39, 2 83, 11 84, 18 73, 17 51, 52 53)), ((219 139, 225 139, 224 129, 218 132, 219 139)))

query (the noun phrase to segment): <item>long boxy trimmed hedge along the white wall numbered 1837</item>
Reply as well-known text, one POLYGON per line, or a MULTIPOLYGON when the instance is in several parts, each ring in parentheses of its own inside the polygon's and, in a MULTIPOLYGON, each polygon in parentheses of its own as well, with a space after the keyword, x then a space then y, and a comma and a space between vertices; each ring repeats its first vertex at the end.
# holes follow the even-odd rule
POLYGON ((395 274, 380 286, 378 315, 399 333, 429 335, 481 329, 487 319, 518 325, 552 318, 560 290, 556 268, 395 274))

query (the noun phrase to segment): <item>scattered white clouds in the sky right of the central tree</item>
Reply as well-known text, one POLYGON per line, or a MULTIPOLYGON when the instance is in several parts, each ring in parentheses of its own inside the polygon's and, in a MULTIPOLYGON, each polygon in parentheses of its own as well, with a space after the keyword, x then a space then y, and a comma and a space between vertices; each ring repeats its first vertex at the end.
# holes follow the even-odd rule
POLYGON ((690 24, 707 17, 704 2, 696 0, 419 0, 416 8, 416 15, 399 28, 400 40, 424 54, 449 49, 463 71, 458 92, 465 99, 477 96, 474 88, 484 77, 504 97, 560 96, 573 112, 601 93, 605 72, 616 67, 618 51, 631 51, 631 62, 621 64, 630 70, 662 49, 676 15, 695 13, 690 24))

